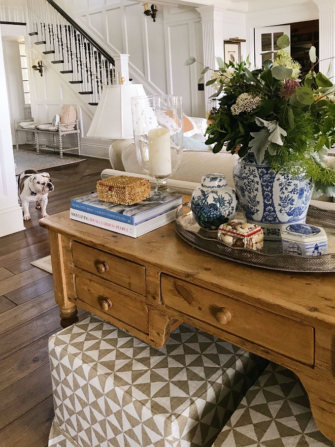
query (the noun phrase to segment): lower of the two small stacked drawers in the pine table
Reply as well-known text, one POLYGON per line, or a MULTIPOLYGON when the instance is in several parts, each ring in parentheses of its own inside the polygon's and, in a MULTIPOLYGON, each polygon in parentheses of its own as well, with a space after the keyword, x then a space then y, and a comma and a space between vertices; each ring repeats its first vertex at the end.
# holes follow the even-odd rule
POLYGON ((79 300, 148 333, 148 309, 144 303, 117 294, 101 282, 97 283, 81 275, 76 275, 75 283, 79 300))

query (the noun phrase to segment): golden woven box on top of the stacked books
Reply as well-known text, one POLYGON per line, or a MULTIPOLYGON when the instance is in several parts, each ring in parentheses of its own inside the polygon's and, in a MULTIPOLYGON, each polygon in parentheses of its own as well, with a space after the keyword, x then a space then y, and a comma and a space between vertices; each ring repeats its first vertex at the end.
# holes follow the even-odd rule
POLYGON ((118 175, 98 180, 96 190, 99 200, 133 205, 150 197, 149 180, 142 177, 118 175))

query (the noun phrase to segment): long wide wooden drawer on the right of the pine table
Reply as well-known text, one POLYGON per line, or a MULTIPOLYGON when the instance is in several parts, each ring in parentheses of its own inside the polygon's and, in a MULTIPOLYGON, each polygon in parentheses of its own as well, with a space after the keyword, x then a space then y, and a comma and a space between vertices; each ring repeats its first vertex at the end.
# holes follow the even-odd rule
POLYGON ((314 328, 281 315, 161 274, 166 306, 276 353, 314 364, 314 328))

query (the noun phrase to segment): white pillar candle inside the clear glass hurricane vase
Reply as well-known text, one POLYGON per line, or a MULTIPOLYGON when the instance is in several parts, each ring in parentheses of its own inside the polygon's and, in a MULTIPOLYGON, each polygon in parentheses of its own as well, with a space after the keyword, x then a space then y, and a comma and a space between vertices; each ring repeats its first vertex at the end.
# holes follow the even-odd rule
POLYGON ((151 129, 148 141, 150 174, 168 177, 172 173, 170 130, 151 129))

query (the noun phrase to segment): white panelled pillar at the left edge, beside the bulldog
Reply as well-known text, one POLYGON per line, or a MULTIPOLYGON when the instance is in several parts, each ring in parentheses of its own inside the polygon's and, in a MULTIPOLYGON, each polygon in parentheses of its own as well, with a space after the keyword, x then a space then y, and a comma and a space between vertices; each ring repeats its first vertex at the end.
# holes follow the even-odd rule
MULTIPOLYGON (((1 30, 0 30, 1 41, 1 30)), ((3 46, 0 44, 0 237, 24 230, 18 204, 3 46)))

